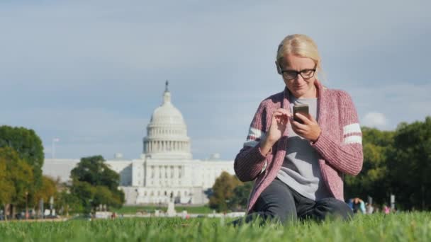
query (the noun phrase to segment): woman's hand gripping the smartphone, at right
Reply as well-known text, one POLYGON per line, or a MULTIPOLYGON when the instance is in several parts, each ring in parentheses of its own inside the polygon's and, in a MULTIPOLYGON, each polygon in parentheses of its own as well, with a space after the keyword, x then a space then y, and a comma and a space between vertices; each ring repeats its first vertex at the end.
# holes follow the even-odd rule
POLYGON ((308 139, 310 142, 316 142, 322 132, 318 122, 310 114, 302 115, 301 113, 296 113, 296 117, 303 121, 303 124, 291 120, 291 126, 294 132, 301 137, 308 139))

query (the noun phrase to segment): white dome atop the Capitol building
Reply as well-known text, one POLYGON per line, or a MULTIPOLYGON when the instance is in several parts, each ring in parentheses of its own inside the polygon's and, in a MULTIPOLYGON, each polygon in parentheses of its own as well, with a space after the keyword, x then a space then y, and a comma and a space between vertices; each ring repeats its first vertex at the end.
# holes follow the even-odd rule
POLYGON ((147 136, 144 137, 144 154, 152 158, 191 159, 190 138, 181 112, 171 103, 167 87, 163 103, 154 110, 147 136))

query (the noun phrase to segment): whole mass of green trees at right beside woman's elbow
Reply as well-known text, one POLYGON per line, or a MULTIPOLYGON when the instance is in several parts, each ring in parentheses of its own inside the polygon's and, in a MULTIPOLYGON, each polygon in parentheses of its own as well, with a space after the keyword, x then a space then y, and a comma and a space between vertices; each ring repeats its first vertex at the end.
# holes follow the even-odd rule
POLYGON ((362 128, 364 166, 346 176, 345 197, 374 197, 388 204, 396 195, 398 208, 431 209, 431 117, 401 123, 395 131, 362 128))

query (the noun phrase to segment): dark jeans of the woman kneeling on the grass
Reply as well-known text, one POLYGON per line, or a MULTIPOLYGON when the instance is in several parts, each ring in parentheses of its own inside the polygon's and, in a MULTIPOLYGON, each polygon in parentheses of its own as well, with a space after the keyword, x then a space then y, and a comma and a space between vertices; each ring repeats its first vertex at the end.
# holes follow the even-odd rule
POLYGON ((250 222, 256 217, 286 224, 298 219, 322 221, 328 217, 338 217, 347 220, 352 216, 352 209, 345 202, 334 197, 310 200, 276 178, 259 196, 251 213, 244 219, 233 221, 233 224, 250 222))

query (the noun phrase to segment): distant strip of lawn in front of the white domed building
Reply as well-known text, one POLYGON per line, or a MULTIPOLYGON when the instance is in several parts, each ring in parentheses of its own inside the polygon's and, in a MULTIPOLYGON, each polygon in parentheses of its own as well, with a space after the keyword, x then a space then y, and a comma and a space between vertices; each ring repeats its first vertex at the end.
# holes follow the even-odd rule
MULTIPOLYGON (((154 213, 155 209, 162 210, 163 212, 167 211, 167 206, 123 206, 121 209, 113 209, 113 212, 118 214, 136 214, 138 211, 142 212, 152 212, 154 213)), ((186 210, 189 214, 211 214, 213 213, 213 209, 208 206, 200 206, 200 207, 192 207, 192 206, 175 206, 175 210, 177 212, 182 212, 186 210)))

